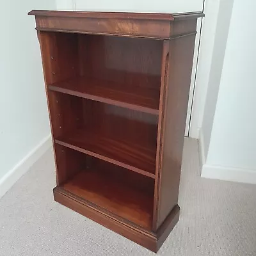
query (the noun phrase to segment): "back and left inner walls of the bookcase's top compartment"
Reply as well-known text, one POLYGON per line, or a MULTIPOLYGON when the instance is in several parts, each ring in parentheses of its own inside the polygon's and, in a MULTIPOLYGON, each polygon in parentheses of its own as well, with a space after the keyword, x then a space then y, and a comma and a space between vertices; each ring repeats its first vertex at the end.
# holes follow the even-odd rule
POLYGON ((85 76, 159 90, 161 40, 40 31, 40 42, 48 85, 85 76))

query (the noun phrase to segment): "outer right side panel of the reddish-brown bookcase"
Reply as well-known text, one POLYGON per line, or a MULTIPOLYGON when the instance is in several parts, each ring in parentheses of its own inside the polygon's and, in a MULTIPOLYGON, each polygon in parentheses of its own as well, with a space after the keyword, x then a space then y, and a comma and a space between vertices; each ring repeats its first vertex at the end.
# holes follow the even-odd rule
POLYGON ((166 91, 162 156, 159 175, 159 200, 156 228, 177 205, 180 168, 193 64, 195 35, 170 40, 169 86, 166 91))

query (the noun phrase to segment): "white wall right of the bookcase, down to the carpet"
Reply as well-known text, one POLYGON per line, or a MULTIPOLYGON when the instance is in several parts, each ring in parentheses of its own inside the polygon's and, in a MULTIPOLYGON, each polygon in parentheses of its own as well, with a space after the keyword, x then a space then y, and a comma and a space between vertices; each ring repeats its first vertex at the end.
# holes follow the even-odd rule
POLYGON ((203 177, 256 184, 255 8, 234 0, 203 177))

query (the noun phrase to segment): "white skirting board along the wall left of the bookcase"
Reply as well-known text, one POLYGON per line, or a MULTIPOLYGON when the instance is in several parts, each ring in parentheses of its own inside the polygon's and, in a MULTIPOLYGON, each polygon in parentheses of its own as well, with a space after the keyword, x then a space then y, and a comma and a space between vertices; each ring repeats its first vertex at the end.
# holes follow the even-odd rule
POLYGON ((24 175, 29 168, 51 147, 51 134, 47 135, 19 163, 17 163, 3 178, 0 179, 0 198, 24 175))

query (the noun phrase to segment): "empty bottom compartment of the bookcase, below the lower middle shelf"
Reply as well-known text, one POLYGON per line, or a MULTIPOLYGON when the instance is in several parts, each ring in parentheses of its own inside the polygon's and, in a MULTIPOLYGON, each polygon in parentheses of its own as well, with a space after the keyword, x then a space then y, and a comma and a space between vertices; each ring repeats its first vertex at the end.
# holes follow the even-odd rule
POLYGON ((55 144, 59 186, 102 211, 152 228, 154 179, 55 144))

